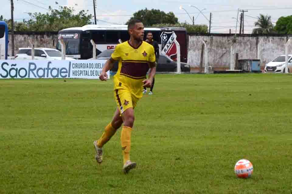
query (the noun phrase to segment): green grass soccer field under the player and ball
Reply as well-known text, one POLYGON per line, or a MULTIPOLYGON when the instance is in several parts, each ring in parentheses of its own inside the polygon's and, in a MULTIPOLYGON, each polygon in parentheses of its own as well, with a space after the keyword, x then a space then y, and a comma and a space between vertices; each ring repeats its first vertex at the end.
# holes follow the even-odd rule
POLYGON ((124 175, 113 80, 0 80, 0 193, 292 193, 292 75, 156 75, 124 175), (238 179, 249 159, 254 174, 238 179))

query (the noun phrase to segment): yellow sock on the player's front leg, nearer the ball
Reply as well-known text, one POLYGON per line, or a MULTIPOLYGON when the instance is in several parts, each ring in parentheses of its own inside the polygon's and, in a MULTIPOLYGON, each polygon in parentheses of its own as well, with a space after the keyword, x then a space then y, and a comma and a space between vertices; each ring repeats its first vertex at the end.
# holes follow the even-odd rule
POLYGON ((121 132, 121 145, 122 145, 124 164, 127 162, 127 160, 130 160, 131 132, 132 132, 132 128, 123 126, 123 129, 121 132))

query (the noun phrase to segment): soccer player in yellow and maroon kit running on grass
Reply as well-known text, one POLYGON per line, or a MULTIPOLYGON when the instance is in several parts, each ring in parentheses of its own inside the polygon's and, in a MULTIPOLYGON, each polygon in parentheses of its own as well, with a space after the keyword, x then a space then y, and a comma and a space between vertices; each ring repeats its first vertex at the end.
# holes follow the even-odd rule
POLYGON ((134 108, 142 97, 142 87, 150 87, 156 72, 154 48, 144 38, 144 25, 139 20, 131 20, 128 24, 130 40, 118 44, 103 67, 99 79, 107 80, 106 72, 113 68, 115 61, 119 61, 118 71, 113 77, 114 98, 117 109, 112 121, 105 127, 99 140, 94 141, 96 161, 101 163, 102 147, 123 124, 121 131, 121 146, 123 154, 123 171, 127 174, 136 167, 130 160, 131 132, 134 125, 134 108), (146 74, 150 72, 148 79, 146 74))

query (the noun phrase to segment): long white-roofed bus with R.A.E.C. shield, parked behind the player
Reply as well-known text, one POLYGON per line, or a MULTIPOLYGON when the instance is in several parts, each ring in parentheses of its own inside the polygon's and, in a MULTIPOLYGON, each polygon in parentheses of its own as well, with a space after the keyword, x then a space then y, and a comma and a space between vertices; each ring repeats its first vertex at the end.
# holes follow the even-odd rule
MULTIPOLYGON (((153 39, 158 42, 160 53, 175 59, 176 46, 174 39, 180 44, 181 61, 187 59, 187 37, 185 28, 144 28, 146 39, 147 32, 152 32, 153 39), (174 33, 173 33, 174 32, 174 33)), ((127 25, 85 25, 82 27, 66 28, 58 33, 58 38, 63 37, 66 45, 66 57, 74 59, 92 58, 92 39, 96 43, 96 54, 106 49, 113 49, 118 44, 130 39, 127 25)), ((61 45, 57 42, 57 49, 61 51, 61 45)))

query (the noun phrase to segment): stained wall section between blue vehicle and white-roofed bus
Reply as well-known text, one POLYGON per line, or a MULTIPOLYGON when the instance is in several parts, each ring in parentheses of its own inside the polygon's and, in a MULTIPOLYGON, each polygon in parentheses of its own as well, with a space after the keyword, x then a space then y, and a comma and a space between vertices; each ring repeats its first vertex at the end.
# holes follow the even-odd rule
MULTIPOLYGON (((12 56, 11 34, 8 40, 8 54, 12 56)), ((35 47, 56 48, 57 32, 15 32, 14 34, 14 54, 18 53, 18 48, 30 47, 30 40, 35 47)))

